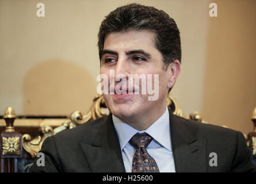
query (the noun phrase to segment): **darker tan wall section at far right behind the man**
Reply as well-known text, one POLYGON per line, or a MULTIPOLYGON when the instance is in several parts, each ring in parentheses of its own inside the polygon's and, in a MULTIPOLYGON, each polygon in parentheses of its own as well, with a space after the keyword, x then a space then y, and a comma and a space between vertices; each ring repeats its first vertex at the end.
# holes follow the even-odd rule
POLYGON ((212 124, 247 133, 256 106, 256 1, 215 1, 209 19, 201 112, 212 124))

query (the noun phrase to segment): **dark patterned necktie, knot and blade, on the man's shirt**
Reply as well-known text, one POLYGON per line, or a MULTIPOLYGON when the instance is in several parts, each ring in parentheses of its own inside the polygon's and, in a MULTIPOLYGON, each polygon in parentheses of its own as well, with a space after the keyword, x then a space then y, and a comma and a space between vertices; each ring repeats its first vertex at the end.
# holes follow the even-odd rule
POLYGON ((159 173, 155 160, 146 150, 151 141, 152 137, 147 133, 136 133, 129 140, 136 149, 132 159, 132 173, 159 173))

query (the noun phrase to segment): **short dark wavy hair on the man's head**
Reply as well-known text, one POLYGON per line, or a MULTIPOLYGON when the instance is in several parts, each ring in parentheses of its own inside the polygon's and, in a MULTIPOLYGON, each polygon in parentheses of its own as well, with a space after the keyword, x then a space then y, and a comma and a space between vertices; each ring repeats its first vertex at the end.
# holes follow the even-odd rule
POLYGON ((156 33, 154 44, 162 53, 165 68, 176 59, 181 62, 181 39, 173 18, 163 10, 137 3, 118 7, 101 22, 98 32, 100 60, 104 40, 109 33, 143 29, 156 33))

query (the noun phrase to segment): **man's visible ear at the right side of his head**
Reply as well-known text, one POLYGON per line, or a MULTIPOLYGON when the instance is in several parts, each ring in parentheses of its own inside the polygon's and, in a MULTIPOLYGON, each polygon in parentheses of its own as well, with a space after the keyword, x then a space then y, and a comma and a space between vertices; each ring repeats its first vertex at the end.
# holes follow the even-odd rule
POLYGON ((178 78, 179 72, 181 71, 181 63, 179 63, 179 60, 174 60, 174 62, 171 62, 169 64, 167 71, 169 71, 169 80, 168 80, 168 87, 173 87, 175 81, 178 78))

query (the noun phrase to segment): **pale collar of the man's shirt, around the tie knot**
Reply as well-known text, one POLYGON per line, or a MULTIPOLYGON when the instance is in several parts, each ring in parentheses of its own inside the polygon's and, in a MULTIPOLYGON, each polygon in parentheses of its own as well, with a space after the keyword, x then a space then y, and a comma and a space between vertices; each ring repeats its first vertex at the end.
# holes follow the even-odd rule
POLYGON ((119 118, 112 114, 114 128, 116 129, 117 136, 119 137, 121 150, 129 142, 133 135, 136 133, 146 132, 153 137, 155 141, 171 151, 171 135, 170 135, 170 118, 169 110, 166 106, 165 113, 158 118, 150 127, 144 131, 137 131, 135 128, 121 121, 119 118))

